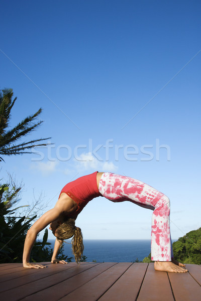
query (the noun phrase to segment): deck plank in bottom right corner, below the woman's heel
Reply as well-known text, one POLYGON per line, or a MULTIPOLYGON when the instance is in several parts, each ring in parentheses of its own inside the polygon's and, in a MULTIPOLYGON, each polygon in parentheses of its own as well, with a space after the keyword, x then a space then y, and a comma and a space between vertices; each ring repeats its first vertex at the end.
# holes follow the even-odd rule
POLYGON ((168 273, 175 300, 200 301, 201 287, 190 275, 191 265, 186 264, 186 267, 189 270, 187 273, 168 273))

